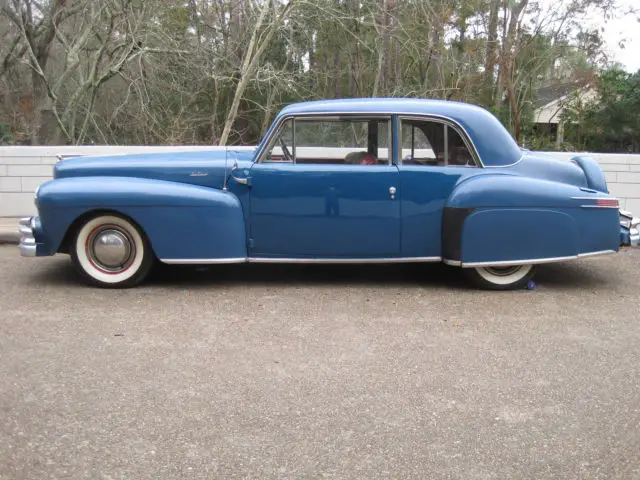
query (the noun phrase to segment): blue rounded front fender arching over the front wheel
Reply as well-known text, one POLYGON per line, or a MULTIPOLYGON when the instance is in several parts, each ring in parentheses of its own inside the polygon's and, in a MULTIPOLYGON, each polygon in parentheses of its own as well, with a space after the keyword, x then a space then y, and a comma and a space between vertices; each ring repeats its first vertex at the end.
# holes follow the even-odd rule
POLYGON ((161 260, 247 255, 242 205, 230 192, 142 178, 74 177, 43 184, 37 203, 40 229, 36 241, 43 255, 59 250, 77 219, 98 211, 131 218, 161 260))

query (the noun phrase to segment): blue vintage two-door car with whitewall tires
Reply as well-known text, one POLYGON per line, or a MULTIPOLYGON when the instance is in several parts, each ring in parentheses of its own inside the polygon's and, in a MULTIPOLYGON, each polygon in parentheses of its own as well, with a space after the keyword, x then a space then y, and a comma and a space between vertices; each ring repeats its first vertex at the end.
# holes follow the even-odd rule
POLYGON ((600 167, 522 150, 486 110, 414 99, 286 107, 258 147, 64 159, 22 219, 28 257, 102 287, 168 264, 444 262, 480 286, 637 245, 600 167))

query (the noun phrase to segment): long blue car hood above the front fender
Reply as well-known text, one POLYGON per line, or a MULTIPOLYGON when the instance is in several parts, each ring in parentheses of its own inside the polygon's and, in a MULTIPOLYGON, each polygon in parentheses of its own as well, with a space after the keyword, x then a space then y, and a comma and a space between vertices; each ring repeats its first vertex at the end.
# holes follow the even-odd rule
POLYGON ((54 178, 136 177, 221 188, 237 161, 251 165, 256 147, 219 147, 195 152, 144 153, 64 159, 54 178))

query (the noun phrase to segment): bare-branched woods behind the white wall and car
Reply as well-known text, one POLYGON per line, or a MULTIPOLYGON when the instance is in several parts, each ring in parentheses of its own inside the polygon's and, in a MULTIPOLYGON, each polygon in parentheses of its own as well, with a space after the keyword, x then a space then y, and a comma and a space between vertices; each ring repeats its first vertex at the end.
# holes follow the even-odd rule
POLYGON ((615 0, 0 0, 0 131, 30 144, 255 143, 287 103, 409 96, 492 110, 606 68, 615 0))

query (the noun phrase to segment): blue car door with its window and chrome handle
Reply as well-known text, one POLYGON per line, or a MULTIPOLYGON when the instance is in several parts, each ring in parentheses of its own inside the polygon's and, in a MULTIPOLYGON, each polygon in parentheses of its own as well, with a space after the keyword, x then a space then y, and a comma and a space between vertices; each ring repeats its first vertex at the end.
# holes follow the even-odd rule
POLYGON ((290 119, 250 171, 252 257, 400 254, 388 119, 290 119))

